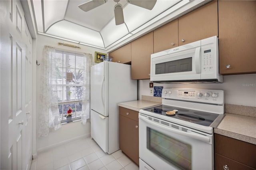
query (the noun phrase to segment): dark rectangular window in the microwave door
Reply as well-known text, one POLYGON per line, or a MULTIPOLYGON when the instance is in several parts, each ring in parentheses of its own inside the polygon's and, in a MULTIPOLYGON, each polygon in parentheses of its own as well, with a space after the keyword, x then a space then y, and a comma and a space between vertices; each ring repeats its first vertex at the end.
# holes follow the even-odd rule
POLYGON ((192 57, 156 64, 155 74, 192 71, 192 57))

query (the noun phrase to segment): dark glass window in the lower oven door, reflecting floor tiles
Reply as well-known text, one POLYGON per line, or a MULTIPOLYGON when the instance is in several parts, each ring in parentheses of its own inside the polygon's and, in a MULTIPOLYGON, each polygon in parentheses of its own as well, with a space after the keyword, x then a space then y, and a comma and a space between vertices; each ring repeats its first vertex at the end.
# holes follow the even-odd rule
POLYGON ((191 170, 191 145, 147 127, 147 148, 180 169, 191 170))

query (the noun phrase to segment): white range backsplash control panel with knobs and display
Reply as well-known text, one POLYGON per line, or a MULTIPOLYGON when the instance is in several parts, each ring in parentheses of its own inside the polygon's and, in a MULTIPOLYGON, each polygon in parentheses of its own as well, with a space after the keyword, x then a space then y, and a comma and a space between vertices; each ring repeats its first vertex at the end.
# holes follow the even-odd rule
POLYGON ((209 89, 162 89, 162 98, 201 103, 223 104, 224 91, 209 89))

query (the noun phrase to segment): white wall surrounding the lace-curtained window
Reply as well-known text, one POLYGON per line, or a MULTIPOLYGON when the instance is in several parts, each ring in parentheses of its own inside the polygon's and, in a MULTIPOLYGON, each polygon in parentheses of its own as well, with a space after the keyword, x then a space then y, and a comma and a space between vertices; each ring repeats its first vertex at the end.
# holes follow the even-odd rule
MULTIPOLYGON (((93 58, 94 58, 95 51, 106 53, 106 51, 102 50, 102 49, 89 47, 86 45, 80 45, 80 44, 76 44, 76 43, 72 43, 72 42, 66 42, 64 40, 59 40, 56 38, 42 36, 39 34, 38 34, 36 40, 37 40, 36 59, 38 61, 38 64, 41 63, 42 51, 43 51, 44 45, 50 45, 50 46, 59 47, 59 48, 66 49, 66 50, 78 51, 78 52, 83 52, 83 53, 91 53, 93 58), (81 47, 81 49, 58 45, 58 42, 77 45, 77 46, 81 47)), ((37 75, 36 84, 37 84, 37 87, 39 87, 39 84, 40 84, 39 77, 40 77, 40 73, 41 73, 40 65, 37 66, 36 71, 37 71, 36 72, 36 75, 37 75)), ((38 102, 40 101, 38 99, 39 90, 40 90, 39 88, 36 89, 37 108, 38 108, 38 102)), ((37 116, 36 120, 38 122, 38 116, 37 116)), ((37 123, 37 125, 38 125, 38 123, 37 123)), ((87 122, 86 125, 82 125, 80 121, 68 123, 68 124, 62 125, 62 127, 60 129, 50 132, 49 135, 46 137, 37 137, 36 138, 36 144, 37 144, 36 148, 37 148, 37 150, 42 151, 44 149, 48 149, 53 146, 58 146, 58 144, 61 144, 61 142, 62 143, 69 142, 70 140, 78 139, 81 136, 85 136, 85 135, 90 136, 90 123, 89 122, 87 122)))

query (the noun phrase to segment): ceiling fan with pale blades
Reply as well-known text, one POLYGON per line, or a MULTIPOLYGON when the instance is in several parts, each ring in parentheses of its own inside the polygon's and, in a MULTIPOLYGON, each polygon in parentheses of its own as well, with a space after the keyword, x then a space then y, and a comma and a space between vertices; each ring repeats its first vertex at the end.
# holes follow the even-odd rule
MULTIPOLYGON (((119 4, 120 0, 114 0, 116 2, 116 5, 114 6, 114 15, 116 20, 116 25, 120 25, 124 23, 124 13, 123 13, 123 7, 121 4, 119 4)), ((148 10, 152 10, 156 4, 156 0, 126 0, 129 4, 133 4, 142 8, 146 8, 148 10)), ((84 4, 79 5, 78 7, 88 12, 98 6, 101 6, 102 4, 105 4, 108 2, 108 0, 90 0, 88 2, 85 2, 84 4)))

